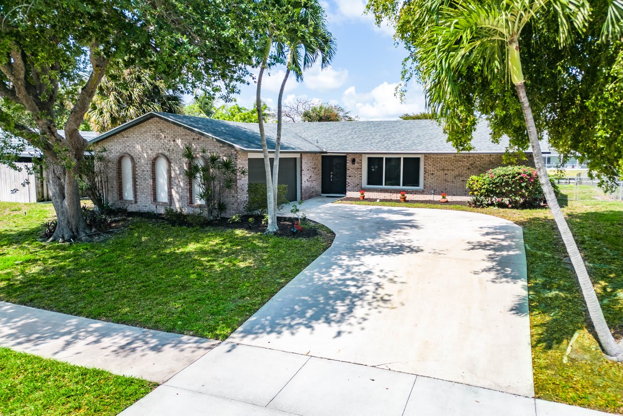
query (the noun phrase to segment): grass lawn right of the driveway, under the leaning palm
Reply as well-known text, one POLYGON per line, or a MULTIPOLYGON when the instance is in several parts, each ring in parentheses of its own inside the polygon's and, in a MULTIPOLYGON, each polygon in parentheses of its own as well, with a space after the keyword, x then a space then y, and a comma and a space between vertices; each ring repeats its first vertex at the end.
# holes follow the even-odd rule
MULTIPOLYGON (((565 186, 562 188, 568 191, 565 186)), ((566 251, 549 210, 352 203, 474 211, 506 218, 522 226, 528 260, 536 396, 623 413, 623 364, 604 359, 592 335, 575 274, 570 264, 563 261, 567 258, 566 251)), ((623 203, 595 200, 568 201, 563 205, 566 205, 563 211, 587 262, 606 319, 620 338, 623 334, 623 203)))

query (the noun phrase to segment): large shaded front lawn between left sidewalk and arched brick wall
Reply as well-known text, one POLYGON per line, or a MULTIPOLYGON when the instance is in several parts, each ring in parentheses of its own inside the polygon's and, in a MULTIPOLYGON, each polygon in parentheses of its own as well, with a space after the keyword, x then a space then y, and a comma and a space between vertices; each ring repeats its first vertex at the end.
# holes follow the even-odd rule
POLYGON ((225 339, 330 245, 133 219, 99 243, 37 241, 49 204, 0 203, 0 300, 225 339))

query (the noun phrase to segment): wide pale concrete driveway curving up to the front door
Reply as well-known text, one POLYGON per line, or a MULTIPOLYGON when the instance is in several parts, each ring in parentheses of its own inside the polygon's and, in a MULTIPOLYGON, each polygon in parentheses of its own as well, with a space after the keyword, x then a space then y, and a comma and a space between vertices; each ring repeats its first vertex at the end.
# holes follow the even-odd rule
POLYGON ((302 211, 333 246, 227 341, 533 397, 519 226, 331 201, 302 211))

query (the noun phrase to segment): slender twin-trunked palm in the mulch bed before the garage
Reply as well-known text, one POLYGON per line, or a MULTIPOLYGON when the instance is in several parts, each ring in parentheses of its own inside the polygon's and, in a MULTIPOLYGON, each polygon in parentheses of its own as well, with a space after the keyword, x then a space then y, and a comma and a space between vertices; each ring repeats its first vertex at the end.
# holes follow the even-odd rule
MULTIPOLYGON (((290 73, 293 72, 297 81, 303 80, 303 72, 310 69, 320 57, 321 68, 330 64, 335 55, 336 44, 331 32, 326 29, 325 9, 318 0, 282 0, 277 1, 278 16, 275 24, 269 30, 264 58, 257 77, 256 102, 262 102, 262 76, 267 68, 272 47, 275 47, 275 57, 285 60, 286 70, 277 99, 277 136, 275 137, 275 155, 270 170, 270 156, 264 133, 264 117, 257 109, 262 150, 264 152, 264 168, 266 171, 266 188, 268 202, 267 233, 275 233, 277 227, 277 180, 279 171, 279 150, 282 133, 283 90, 290 73), (279 12, 280 11, 280 12, 279 12)), ((272 7, 271 7, 272 8, 272 7)))

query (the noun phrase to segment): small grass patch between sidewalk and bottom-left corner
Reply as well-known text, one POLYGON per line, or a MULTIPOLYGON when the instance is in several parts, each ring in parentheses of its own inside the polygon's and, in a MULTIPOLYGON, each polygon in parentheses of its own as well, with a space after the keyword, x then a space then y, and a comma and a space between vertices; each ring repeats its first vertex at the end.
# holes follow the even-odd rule
POLYGON ((0 348, 0 415, 116 415, 154 387, 0 348))

